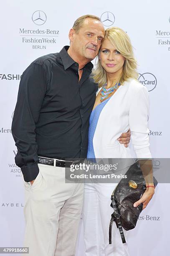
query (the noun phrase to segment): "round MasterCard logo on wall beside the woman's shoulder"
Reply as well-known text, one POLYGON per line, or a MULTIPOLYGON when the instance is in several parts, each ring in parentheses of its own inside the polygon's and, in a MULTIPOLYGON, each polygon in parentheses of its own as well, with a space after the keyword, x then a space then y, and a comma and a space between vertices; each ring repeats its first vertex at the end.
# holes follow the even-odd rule
POLYGON ((151 92, 157 85, 157 79, 154 74, 146 72, 143 74, 139 73, 139 82, 147 87, 147 90, 151 92))

